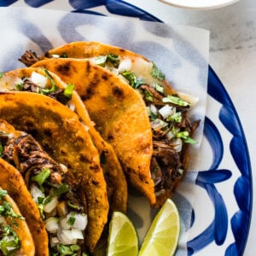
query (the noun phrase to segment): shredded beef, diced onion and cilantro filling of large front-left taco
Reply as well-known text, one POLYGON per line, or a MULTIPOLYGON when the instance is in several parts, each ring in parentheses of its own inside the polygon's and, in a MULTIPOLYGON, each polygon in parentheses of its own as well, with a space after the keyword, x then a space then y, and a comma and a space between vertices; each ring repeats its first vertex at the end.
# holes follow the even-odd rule
POLYGON ((38 205, 49 234, 50 252, 62 255, 65 248, 80 255, 87 224, 86 201, 81 203, 79 190, 71 190, 65 181, 67 167, 52 160, 26 132, 2 133, 0 138, 4 142, 2 158, 20 171, 38 205))

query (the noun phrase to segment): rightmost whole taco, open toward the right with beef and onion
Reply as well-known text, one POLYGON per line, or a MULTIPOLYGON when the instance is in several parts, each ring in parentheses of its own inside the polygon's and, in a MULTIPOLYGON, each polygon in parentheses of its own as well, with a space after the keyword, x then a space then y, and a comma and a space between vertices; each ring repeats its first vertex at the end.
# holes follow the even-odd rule
MULTIPOLYGON (((144 188, 148 188, 148 193, 144 193, 144 195, 148 196, 151 206, 163 205, 166 198, 172 195, 177 184, 182 181, 188 168, 189 143, 196 143, 192 136, 199 125, 199 120, 190 120, 187 117, 189 108, 196 102, 195 98, 178 94, 166 81, 165 75, 161 73, 154 62, 129 50, 107 44, 74 42, 50 49, 39 58, 32 53, 26 53, 21 57, 21 61, 26 65, 33 63, 33 67, 45 67, 67 83, 73 80, 75 90, 81 96, 98 131, 116 148, 128 181, 135 184, 130 176, 133 172, 138 177, 135 187, 142 192, 144 188), (33 57, 26 58, 28 55, 33 57), (131 148, 120 151, 119 148, 123 149, 125 143, 122 143, 123 134, 119 133, 119 126, 110 128, 107 120, 102 121, 103 114, 109 120, 116 113, 115 108, 121 112, 125 104, 108 101, 104 96, 107 89, 102 89, 99 86, 104 83, 103 79, 96 75, 99 72, 93 73, 93 75, 90 73, 93 65, 99 66, 98 70, 105 68, 106 72, 113 73, 116 82, 113 83, 113 80, 108 79, 105 83, 109 89, 113 88, 113 84, 119 84, 119 88, 122 86, 122 91, 129 91, 130 97, 139 95, 143 100, 143 107, 137 106, 134 113, 123 115, 124 119, 129 119, 129 122, 131 119, 135 119, 127 129, 131 137, 137 138, 138 134, 151 133, 150 138, 143 137, 141 142, 127 142, 133 151, 131 148), (97 109, 96 106, 101 106, 102 109, 97 109), (143 118, 141 118, 142 113, 143 118), (140 125, 143 125, 143 131, 139 130, 140 125), (115 137, 119 138, 118 142, 114 141, 115 137), (143 152, 137 151, 136 155, 141 158, 136 160, 134 152, 138 145, 152 146, 144 148, 143 152), (129 152, 133 152, 133 154, 130 155, 129 152), (143 166, 146 162, 143 158, 145 152, 148 153, 149 161, 146 166, 143 166), (128 165, 127 160, 124 159, 124 156, 127 155, 130 157, 128 165)), ((131 107, 134 103, 129 102, 129 105, 131 107)), ((127 113, 125 109, 123 112, 127 113)), ((119 117, 119 119, 121 118, 119 117)), ((123 126, 125 125, 123 122, 123 126)))

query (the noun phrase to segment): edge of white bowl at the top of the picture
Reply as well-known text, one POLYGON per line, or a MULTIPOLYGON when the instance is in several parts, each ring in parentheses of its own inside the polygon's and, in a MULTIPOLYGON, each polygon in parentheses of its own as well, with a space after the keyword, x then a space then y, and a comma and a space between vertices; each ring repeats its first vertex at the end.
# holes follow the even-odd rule
POLYGON ((186 9, 217 9, 239 0, 159 0, 172 6, 186 9))

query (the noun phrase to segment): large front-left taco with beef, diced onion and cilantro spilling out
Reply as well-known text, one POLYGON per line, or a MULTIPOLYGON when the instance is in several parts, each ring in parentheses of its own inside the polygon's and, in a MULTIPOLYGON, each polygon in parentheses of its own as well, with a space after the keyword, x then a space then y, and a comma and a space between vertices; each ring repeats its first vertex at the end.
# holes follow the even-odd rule
POLYGON ((0 109, 3 159, 19 170, 37 202, 50 250, 84 252, 85 244, 93 251, 108 220, 107 188, 79 117, 31 92, 0 93, 0 109))

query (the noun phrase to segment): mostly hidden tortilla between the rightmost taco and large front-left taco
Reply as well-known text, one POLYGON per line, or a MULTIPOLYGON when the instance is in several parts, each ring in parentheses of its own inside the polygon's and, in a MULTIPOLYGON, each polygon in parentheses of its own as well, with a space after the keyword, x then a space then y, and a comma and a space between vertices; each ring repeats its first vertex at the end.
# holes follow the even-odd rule
MULTIPOLYGON (((0 90, 18 90, 16 84, 19 79, 31 78, 32 73, 39 73, 45 76, 44 70, 39 67, 26 67, 15 69, 4 73, 0 79, 0 90)), ((55 81, 56 89, 65 89, 67 84, 63 83, 59 77, 54 73, 49 73, 55 81)), ((50 85, 50 84, 49 84, 50 85)), ((24 89, 23 89, 24 90, 24 89)), ((57 99, 58 100, 58 99, 57 99)), ((88 127, 90 137, 95 144, 99 154, 101 155, 101 166, 104 172, 104 177, 107 183, 108 203, 110 213, 114 211, 126 212, 127 207, 127 183, 125 174, 119 163, 117 155, 113 147, 103 140, 100 133, 96 131, 90 116, 87 113, 84 103, 81 101, 79 95, 73 90, 71 101, 69 105, 74 105, 74 112, 79 114, 79 118, 83 121, 84 125, 88 127)))

